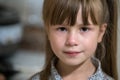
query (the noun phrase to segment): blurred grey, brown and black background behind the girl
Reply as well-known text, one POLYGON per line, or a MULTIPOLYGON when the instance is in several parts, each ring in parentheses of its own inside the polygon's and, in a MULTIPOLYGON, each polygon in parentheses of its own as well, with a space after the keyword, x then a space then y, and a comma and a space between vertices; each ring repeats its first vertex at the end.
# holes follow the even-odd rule
MULTIPOLYGON (((0 0, 0 80, 27 80, 42 69, 45 45, 42 4, 43 0, 0 0)), ((119 34, 120 27, 118 72, 119 34)))

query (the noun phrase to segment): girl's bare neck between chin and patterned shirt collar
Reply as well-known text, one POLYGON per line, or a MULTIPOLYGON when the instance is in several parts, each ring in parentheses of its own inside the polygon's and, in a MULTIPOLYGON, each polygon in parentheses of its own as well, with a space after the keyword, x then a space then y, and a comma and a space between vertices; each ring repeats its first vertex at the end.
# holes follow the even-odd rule
POLYGON ((64 80, 87 80, 95 72, 95 66, 91 59, 76 65, 66 65, 61 61, 58 61, 57 70, 64 80))

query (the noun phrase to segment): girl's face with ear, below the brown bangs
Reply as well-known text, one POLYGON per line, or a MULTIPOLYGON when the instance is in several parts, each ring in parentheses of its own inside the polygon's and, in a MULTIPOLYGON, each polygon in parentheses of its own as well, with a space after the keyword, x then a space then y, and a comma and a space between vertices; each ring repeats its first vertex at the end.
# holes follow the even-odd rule
POLYGON ((66 65, 80 65, 95 54, 97 44, 101 42, 106 26, 83 25, 81 8, 76 24, 64 24, 49 27, 48 38, 54 54, 66 65))

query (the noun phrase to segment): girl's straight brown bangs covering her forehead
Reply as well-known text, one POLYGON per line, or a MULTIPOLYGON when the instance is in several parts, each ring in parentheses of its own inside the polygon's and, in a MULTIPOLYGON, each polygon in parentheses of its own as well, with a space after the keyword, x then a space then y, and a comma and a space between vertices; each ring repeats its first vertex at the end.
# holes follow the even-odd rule
POLYGON ((80 7, 82 8, 81 14, 84 25, 89 24, 88 17, 90 17, 93 24, 100 24, 100 15, 102 13, 100 0, 50 0, 48 5, 46 6, 48 6, 49 10, 48 8, 43 10, 43 19, 47 25, 59 25, 65 22, 73 26, 76 23, 80 7))

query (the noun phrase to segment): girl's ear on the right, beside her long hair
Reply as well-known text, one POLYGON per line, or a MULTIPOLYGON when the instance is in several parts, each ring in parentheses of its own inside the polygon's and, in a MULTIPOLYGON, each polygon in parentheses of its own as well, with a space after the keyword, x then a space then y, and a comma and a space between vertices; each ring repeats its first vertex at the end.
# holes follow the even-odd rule
POLYGON ((100 43, 103 39, 103 36, 105 34, 105 31, 106 31, 106 28, 107 28, 107 24, 104 23, 100 26, 100 29, 99 29, 99 35, 98 35, 98 43, 100 43))

